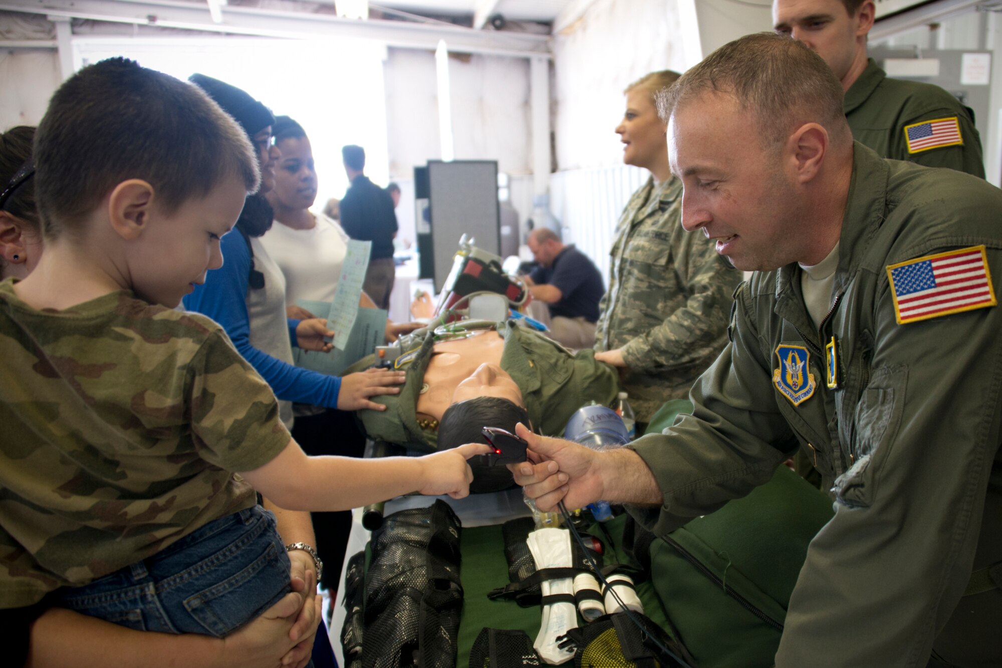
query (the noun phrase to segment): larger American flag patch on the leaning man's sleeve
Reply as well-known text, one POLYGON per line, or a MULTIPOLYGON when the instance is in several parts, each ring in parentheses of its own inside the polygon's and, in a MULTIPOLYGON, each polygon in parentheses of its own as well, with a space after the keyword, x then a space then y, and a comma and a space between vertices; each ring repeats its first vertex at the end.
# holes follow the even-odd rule
POLYGON ((899 325, 997 304, 984 246, 900 262, 887 275, 899 325))

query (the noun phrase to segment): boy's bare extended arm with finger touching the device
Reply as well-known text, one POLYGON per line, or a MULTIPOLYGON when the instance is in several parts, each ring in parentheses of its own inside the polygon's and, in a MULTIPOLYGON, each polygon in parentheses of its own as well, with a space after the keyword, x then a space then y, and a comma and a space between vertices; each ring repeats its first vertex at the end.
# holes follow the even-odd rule
POLYGON ((279 456, 241 475, 281 508, 346 511, 412 491, 462 498, 473 480, 466 460, 488 451, 468 443, 423 457, 308 457, 290 440, 279 456))

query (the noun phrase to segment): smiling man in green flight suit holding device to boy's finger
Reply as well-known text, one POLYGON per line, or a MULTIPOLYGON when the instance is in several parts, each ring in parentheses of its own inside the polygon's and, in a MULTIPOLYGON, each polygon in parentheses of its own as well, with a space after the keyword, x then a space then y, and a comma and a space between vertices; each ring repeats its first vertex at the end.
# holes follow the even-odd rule
POLYGON ((800 448, 835 517, 776 665, 998 665, 1002 192, 881 158, 853 141, 842 97, 817 54, 771 33, 662 95, 683 227, 756 271, 730 343, 665 433, 595 452, 520 429, 537 463, 511 467, 541 511, 624 503, 664 536, 800 448), (806 280, 833 257, 830 280, 806 280))

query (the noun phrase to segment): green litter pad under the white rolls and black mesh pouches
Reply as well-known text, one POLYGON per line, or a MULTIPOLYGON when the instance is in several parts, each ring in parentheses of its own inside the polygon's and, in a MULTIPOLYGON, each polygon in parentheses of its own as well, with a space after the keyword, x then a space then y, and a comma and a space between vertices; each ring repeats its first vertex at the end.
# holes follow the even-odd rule
MULTIPOLYGON (((625 521, 626 516, 623 515, 605 525, 616 543, 615 546, 609 546, 608 539, 597 526, 587 532, 601 540, 605 546, 603 555, 605 564, 628 563, 621 547, 625 521)), ((571 540, 574 540, 573 537, 571 540)), ((535 641, 542 614, 539 606, 521 608, 514 600, 491 601, 487 598, 491 590, 508 584, 508 564, 504 558, 501 526, 464 528, 460 537, 460 553, 463 555, 460 572, 463 582, 463 613, 459 622, 456 667, 468 668, 470 650, 480 631, 485 627, 521 630, 529 636, 530 641, 535 641)), ((635 566, 632 563, 629 565, 635 566)), ((642 582, 637 585, 636 590, 643 604, 644 614, 655 624, 665 628, 666 617, 650 583, 642 582)), ((580 616, 578 621, 581 622, 580 616)))

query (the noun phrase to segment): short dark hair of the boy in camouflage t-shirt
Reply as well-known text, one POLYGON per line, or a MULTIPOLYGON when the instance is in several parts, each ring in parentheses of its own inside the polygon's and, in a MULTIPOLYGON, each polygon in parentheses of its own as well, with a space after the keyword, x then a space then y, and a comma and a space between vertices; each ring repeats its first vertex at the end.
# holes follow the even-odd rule
POLYGON ((141 179, 162 211, 208 195, 227 177, 258 190, 243 129, 197 86, 125 58, 84 67, 49 102, 35 134, 42 233, 75 230, 118 184, 141 179))

